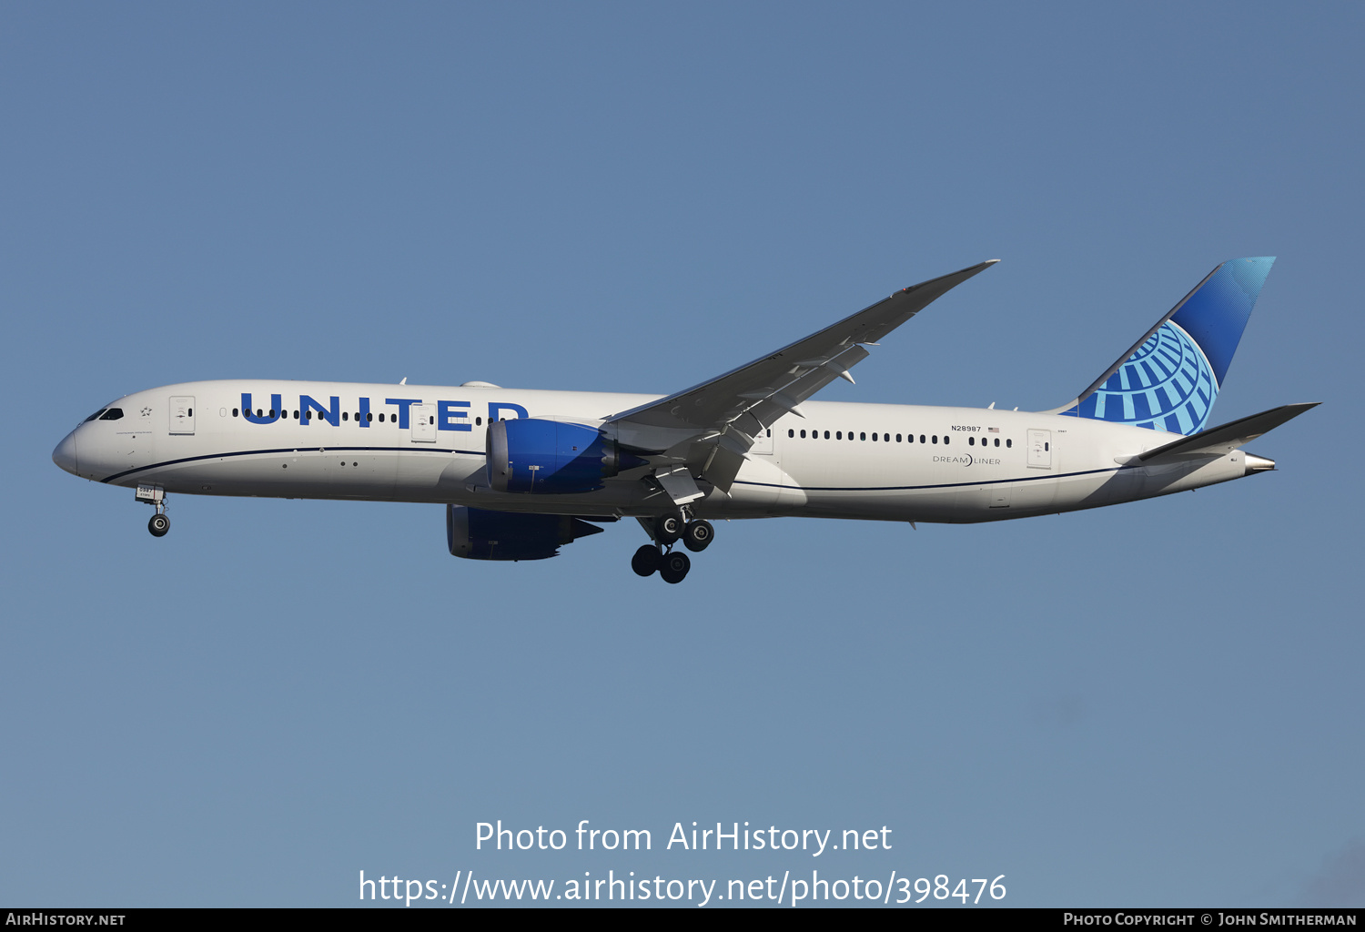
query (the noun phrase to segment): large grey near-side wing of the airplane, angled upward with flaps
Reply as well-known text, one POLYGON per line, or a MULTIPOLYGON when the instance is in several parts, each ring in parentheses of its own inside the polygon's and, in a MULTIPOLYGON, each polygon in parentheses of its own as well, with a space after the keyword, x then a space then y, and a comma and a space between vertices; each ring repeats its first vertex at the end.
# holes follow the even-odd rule
POLYGON ((692 475, 729 490, 759 431, 786 413, 803 416, 800 404, 835 378, 852 382, 849 370, 868 356, 864 344, 875 345, 930 302, 995 262, 898 291, 747 366, 613 415, 607 424, 622 446, 654 457, 658 465, 687 464, 692 475))

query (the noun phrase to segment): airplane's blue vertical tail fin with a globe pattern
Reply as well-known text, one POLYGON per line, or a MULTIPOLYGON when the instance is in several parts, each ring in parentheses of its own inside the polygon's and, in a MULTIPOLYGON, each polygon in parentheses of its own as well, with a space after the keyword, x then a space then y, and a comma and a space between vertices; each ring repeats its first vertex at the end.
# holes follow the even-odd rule
POLYGON ((1076 401, 1052 413, 1173 434, 1204 430, 1274 263, 1269 255, 1213 269, 1076 401))

